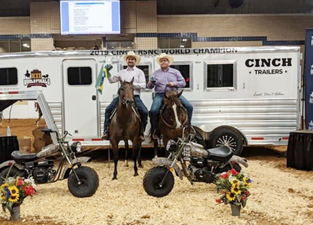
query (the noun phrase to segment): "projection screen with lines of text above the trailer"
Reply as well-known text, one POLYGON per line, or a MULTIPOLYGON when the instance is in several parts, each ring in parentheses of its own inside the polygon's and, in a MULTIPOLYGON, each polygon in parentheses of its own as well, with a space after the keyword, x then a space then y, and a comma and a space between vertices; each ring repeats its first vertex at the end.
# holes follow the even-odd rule
POLYGON ((119 0, 61 0, 62 35, 120 34, 119 0))

